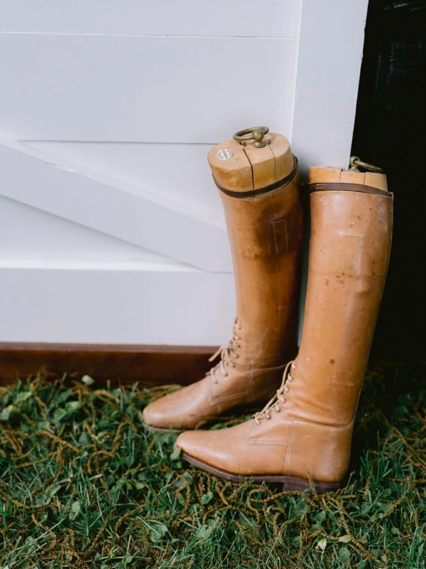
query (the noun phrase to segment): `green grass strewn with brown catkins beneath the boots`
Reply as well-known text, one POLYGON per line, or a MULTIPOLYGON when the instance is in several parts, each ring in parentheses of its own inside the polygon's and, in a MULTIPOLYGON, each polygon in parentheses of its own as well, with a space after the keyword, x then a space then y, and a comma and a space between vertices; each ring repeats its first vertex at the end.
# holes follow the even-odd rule
POLYGON ((368 373, 349 481, 322 496, 181 462, 142 427, 158 388, 0 388, 0 567, 425 568, 425 371, 368 373))

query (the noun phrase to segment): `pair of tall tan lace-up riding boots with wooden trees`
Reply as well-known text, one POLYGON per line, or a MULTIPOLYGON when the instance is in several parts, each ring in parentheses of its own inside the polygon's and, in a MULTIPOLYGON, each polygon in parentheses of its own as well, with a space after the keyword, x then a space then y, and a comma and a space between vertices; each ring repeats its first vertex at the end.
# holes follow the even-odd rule
POLYGON ((197 383, 143 411, 148 429, 181 432, 182 458, 229 480, 337 488, 391 250, 393 194, 384 174, 309 168, 310 250, 297 352, 303 213, 297 160, 285 137, 234 139, 209 152, 231 243, 236 311, 231 341, 197 383), (249 421, 197 428, 229 410, 265 405, 249 421))

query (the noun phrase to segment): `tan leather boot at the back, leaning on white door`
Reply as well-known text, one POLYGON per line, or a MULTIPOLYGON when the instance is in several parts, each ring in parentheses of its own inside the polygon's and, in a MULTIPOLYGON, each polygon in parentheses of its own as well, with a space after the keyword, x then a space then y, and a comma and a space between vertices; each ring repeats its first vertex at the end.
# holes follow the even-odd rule
POLYGON ((231 341, 212 356, 220 361, 205 378, 143 410, 148 428, 193 429, 238 405, 264 405, 295 356, 300 182, 287 139, 271 133, 266 140, 256 148, 231 139, 209 152, 231 242, 238 316, 231 341))

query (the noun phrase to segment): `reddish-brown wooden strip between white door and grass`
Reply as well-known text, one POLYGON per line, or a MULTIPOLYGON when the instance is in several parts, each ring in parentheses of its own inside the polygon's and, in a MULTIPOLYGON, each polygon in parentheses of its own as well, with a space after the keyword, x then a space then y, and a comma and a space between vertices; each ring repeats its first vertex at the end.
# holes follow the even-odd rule
POLYGON ((101 383, 188 385, 211 368, 209 346, 138 346, 125 344, 32 344, 0 342, 0 384, 40 373, 71 379, 84 374, 101 383))

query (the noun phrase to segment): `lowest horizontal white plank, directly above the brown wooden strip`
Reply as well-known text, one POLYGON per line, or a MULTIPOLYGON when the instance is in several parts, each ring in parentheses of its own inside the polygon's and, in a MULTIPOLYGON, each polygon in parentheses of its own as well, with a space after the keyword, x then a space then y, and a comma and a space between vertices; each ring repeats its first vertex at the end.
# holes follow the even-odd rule
POLYGON ((235 316, 232 275, 0 262, 0 281, 0 341, 217 346, 235 316))

